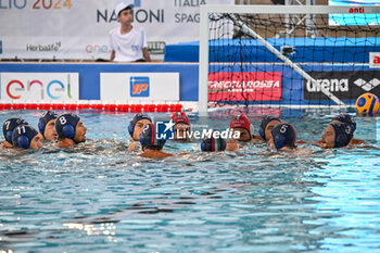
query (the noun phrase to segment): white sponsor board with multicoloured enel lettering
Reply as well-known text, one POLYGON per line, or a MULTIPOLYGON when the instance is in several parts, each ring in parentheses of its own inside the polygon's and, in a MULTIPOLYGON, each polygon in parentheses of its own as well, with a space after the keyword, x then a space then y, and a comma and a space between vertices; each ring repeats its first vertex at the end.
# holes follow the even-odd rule
POLYGON ((76 102, 78 73, 0 73, 2 102, 76 102))

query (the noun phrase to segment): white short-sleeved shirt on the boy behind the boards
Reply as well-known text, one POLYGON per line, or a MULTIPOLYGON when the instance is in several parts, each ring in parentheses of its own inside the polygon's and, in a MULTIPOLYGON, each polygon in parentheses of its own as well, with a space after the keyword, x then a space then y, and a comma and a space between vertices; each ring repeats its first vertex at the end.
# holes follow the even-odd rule
POLYGON ((132 26, 132 29, 122 35, 121 27, 110 30, 110 48, 115 51, 115 62, 135 62, 144 59, 142 49, 148 48, 145 31, 132 26))

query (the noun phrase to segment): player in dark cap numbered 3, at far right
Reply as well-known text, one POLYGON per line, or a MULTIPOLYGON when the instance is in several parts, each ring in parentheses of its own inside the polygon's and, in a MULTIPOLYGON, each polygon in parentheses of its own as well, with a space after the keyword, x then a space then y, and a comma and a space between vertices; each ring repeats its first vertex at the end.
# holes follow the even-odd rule
POLYGON ((319 146, 322 149, 346 147, 353 138, 352 127, 345 123, 332 123, 326 127, 321 138, 319 146))

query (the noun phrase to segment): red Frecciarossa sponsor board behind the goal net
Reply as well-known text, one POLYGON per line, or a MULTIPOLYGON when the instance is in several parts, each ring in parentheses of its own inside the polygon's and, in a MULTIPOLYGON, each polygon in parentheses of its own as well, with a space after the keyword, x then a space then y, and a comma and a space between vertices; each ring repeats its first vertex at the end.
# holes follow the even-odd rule
POLYGON ((208 74, 208 101, 281 100, 281 72, 208 74))

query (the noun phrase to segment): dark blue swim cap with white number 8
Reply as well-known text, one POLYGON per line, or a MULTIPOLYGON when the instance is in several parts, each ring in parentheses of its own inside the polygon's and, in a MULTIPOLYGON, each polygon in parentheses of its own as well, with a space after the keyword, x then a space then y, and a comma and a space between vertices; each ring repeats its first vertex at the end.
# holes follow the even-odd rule
POLYGON ((73 139, 75 137, 76 125, 80 121, 78 115, 73 113, 65 113, 60 115, 55 119, 55 131, 59 138, 61 139, 73 139))

